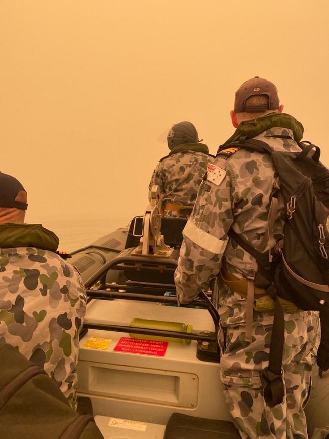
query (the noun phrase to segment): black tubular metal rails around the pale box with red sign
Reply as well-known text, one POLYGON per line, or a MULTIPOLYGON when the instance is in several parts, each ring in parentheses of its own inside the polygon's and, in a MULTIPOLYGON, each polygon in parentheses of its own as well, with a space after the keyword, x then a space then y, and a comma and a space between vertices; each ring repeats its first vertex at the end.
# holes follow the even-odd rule
MULTIPOLYGON (((167 303, 167 304, 177 304, 176 297, 170 296, 159 296, 156 294, 142 294, 136 291, 150 291, 152 292, 165 292, 165 291, 175 291, 174 284, 158 284, 158 283, 149 283, 149 282, 132 282, 130 284, 105 284, 101 283, 99 289, 90 289, 92 285, 94 285, 97 281, 99 281, 102 277, 106 275, 106 273, 112 270, 124 270, 124 269, 132 269, 134 265, 125 265, 125 264, 135 264, 136 269, 140 269, 142 264, 148 265, 148 269, 154 265, 154 269, 158 270, 158 266, 162 266, 163 269, 165 267, 169 269, 176 269, 177 262, 171 259, 165 258, 154 258, 148 256, 117 256, 113 258, 111 261, 104 264, 96 273, 94 273, 86 282, 85 288, 87 291, 88 300, 91 299, 100 299, 100 300, 113 300, 113 299, 124 299, 124 300, 137 300, 137 301, 147 301, 147 302, 157 302, 157 303, 167 303), (136 285, 138 284, 138 285, 136 285), (102 287, 108 288, 110 290, 103 290, 102 287), (125 290, 125 292, 118 291, 125 290), (127 292, 128 290, 128 292, 127 292), (129 292, 134 291, 134 293, 129 292)), ((117 332, 127 332, 132 334, 142 334, 142 335, 153 335, 160 337, 172 337, 172 338, 183 338, 188 340, 199 340, 199 341, 208 341, 214 342, 217 341, 217 333, 219 330, 219 315, 209 300, 206 293, 203 291, 199 294, 200 299, 196 299, 191 302, 189 305, 203 307, 208 310, 210 313, 214 326, 215 333, 211 334, 201 334, 201 333, 186 333, 186 332, 178 332, 178 331, 167 331, 160 329, 149 329, 149 328, 137 328, 128 325, 111 325, 111 324, 99 324, 93 322, 85 322, 83 325, 83 331, 81 331, 80 338, 82 338, 88 329, 99 329, 99 330, 107 330, 107 331, 117 331, 117 332)), ((184 306, 184 305, 181 305, 184 306)))

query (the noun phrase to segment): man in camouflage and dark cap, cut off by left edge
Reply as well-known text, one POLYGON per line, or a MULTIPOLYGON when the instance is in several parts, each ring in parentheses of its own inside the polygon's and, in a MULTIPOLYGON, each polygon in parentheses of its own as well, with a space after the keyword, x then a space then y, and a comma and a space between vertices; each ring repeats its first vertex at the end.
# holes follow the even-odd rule
POLYGON ((58 237, 24 223, 26 202, 19 181, 0 173, 0 344, 43 368, 75 408, 86 292, 56 253, 58 237))

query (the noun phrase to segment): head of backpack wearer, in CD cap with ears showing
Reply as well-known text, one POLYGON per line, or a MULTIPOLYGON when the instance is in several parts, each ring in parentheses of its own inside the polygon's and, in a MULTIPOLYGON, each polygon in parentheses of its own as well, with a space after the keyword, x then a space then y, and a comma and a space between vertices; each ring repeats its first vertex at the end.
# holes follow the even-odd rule
POLYGON ((280 105, 276 86, 268 79, 255 76, 245 81, 236 91, 231 118, 234 127, 237 127, 243 121, 282 111, 283 105, 280 105))

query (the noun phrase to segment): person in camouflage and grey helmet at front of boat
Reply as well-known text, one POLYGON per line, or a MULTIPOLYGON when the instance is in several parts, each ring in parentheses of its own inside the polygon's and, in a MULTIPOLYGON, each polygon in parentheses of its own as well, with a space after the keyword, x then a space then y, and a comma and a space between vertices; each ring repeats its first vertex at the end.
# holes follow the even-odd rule
POLYGON ((188 218, 207 164, 214 158, 207 145, 200 143, 196 128, 180 122, 167 136, 169 155, 161 158, 153 172, 149 190, 160 187, 163 216, 188 218))

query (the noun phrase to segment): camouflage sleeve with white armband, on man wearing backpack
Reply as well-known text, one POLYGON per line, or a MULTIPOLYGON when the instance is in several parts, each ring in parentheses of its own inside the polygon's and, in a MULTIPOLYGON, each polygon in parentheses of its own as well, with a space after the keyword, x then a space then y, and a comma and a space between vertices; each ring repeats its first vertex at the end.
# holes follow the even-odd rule
POLYGON ((220 270, 228 242, 227 233, 233 223, 234 192, 226 171, 220 170, 220 178, 210 181, 208 175, 202 181, 192 215, 183 230, 184 239, 175 272, 177 297, 181 304, 191 302, 220 270))

